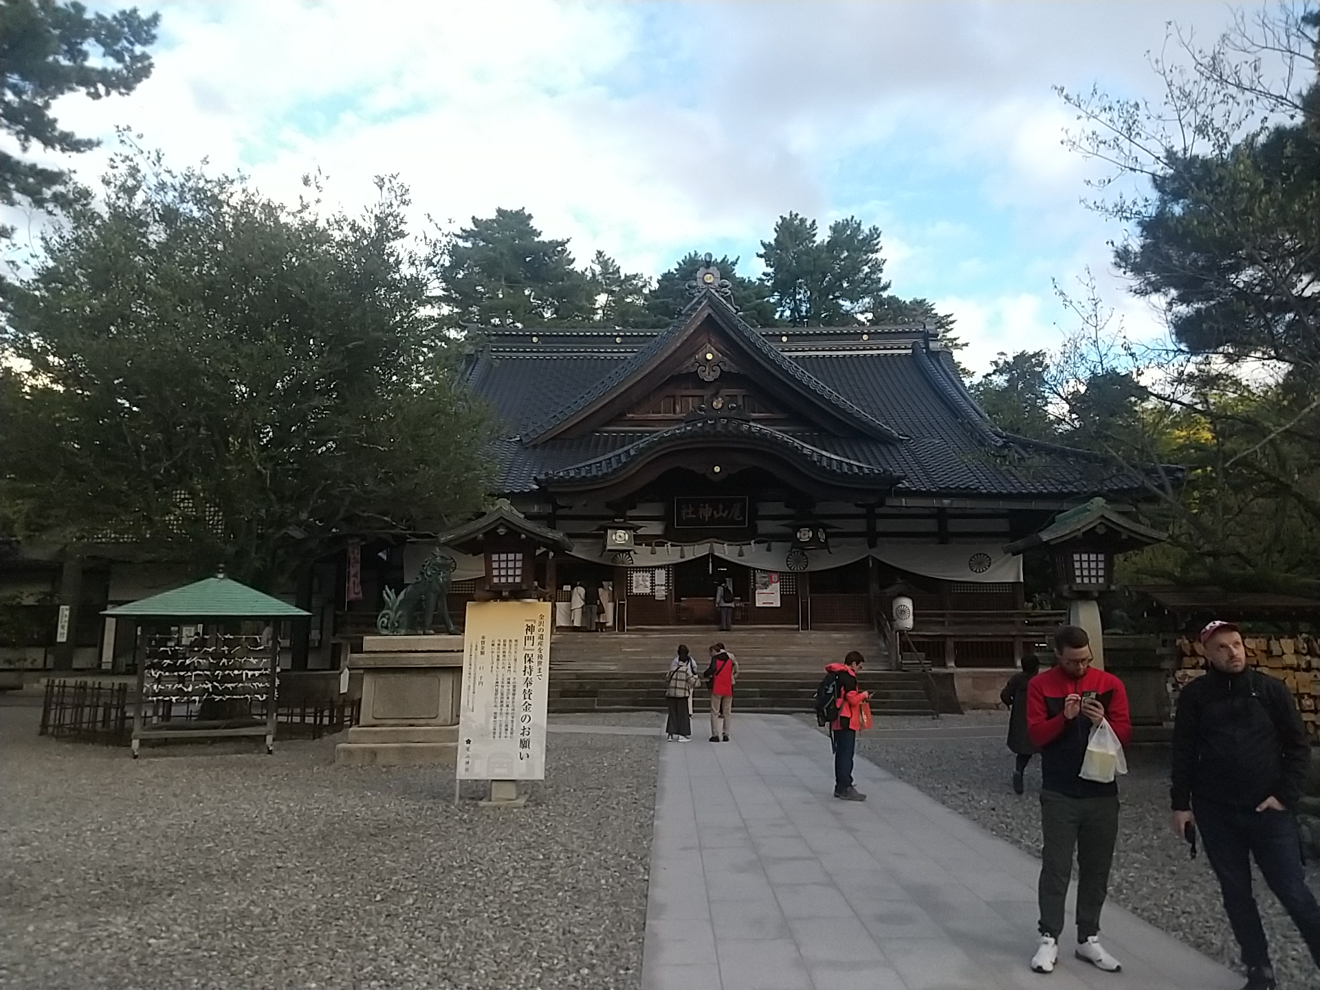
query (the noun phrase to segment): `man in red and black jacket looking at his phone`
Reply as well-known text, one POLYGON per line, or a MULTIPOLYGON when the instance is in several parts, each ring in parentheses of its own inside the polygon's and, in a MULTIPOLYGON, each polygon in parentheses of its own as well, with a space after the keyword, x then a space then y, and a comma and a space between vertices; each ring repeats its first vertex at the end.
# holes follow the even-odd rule
POLYGON ((1090 639, 1080 626, 1055 632, 1055 667, 1027 685, 1027 734, 1040 750, 1040 944, 1031 960, 1036 973, 1052 973, 1064 929, 1064 900, 1077 850, 1077 958, 1107 973, 1118 960, 1101 946, 1100 911, 1118 837, 1118 781, 1084 780, 1090 731, 1105 719, 1126 747, 1133 723, 1127 692, 1111 673, 1090 665, 1090 639))

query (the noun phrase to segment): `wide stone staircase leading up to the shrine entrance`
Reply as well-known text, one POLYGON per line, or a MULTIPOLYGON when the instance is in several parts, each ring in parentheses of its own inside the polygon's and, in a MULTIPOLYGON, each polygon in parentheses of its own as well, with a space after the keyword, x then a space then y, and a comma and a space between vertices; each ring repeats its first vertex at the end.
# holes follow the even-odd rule
MULTIPOLYGON (((734 708, 742 711, 810 711, 825 664, 850 649, 867 659, 862 686, 873 692, 871 711, 935 715, 919 672, 887 667, 884 647, 869 628, 799 632, 784 627, 735 627, 717 632, 706 627, 640 630, 624 634, 557 634, 550 645, 549 710, 649 711, 664 709, 664 673, 678 643, 686 643, 705 669, 714 642, 738 657, 734 708), (873 669, 879 668, 879 669, 873 669)), ((694 709, 709 706, 697 689, 694 709)))

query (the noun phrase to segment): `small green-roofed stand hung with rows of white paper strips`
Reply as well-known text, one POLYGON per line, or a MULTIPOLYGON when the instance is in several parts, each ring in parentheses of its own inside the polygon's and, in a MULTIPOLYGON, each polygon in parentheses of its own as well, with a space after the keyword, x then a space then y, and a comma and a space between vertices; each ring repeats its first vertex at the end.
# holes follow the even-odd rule
POLYGON ((143 739, 219 735, 264 735, 265 751, 275 752, 276 622, 309 612, 220 572, 102 615, 135 622, 143 645, 133 759, 143 739), (255 623, 263 623, 260 632, 252 632, 255 623), (252 702, 264 702, 264 718, 252 713, 252 702))

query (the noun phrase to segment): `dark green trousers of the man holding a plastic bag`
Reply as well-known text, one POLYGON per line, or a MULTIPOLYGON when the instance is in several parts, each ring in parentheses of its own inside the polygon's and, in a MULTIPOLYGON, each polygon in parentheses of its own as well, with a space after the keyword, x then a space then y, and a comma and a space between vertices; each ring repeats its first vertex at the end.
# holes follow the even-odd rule
POLYGON ((1040 933, 1064 931, 1064 902, 1077 853, 1077 941, 1100 935, 1100 909, 1109 890, 1109 866, 1118 838, 1118 795, 1068 797, 1040 792, 1040 933))

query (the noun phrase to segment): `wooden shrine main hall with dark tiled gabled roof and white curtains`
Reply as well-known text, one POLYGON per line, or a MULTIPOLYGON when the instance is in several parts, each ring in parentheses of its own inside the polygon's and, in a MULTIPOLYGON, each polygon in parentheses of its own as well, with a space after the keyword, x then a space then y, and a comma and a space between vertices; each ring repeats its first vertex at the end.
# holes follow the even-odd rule
MULTIPOLYGON (((469 358, 498 495, 572 541, 535 561, 560 627, 713 627, 718 585, 735 624, 875 627, 902 593, 937 665, 1015 665, 1005 548, 1142 478, 998 429, 933 330, 755 327, 701 277, 668 327, 492 329, 469 358), (979 632, 952 635, 970 614, 979 632)), ((484 568, 453 556, 461 614, 484 568)))

